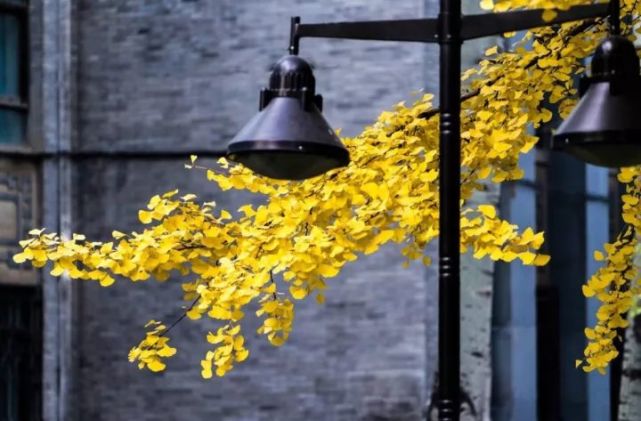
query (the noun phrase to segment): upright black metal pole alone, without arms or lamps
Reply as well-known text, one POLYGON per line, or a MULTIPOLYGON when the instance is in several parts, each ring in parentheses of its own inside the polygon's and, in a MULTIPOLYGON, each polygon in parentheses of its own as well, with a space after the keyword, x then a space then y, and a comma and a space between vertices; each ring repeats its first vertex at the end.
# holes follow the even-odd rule
POLYGON ((440 421, 460 416, 461 0, 441 0, 439 179, 440 421))

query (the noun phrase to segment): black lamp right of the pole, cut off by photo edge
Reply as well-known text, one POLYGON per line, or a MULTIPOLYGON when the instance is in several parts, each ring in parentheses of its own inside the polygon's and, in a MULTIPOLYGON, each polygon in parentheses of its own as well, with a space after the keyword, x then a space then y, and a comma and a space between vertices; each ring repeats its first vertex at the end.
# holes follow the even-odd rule
POLYGON ((561 124, 553 147, 590 164, 641 164, 641 76, 634 45, 610 37, 597 49, 587 89, 561 124))

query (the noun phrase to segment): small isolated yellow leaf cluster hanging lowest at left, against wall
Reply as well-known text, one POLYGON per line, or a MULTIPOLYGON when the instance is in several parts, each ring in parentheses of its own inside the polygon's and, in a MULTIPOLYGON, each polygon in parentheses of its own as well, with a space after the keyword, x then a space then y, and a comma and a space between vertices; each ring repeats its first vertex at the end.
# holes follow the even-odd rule
POLYGON ((155 320, 149 321, 145 327, 150 327, 151 331, 147 332, 137 346, 129 351, 129 362, 138 362, 138 368, 148 368, 151 371, 162 371, 165 369, 163 358, 172 357, 176 354, 176 348, 169 346, 169 338, 164 336, 167 327, 155 320))

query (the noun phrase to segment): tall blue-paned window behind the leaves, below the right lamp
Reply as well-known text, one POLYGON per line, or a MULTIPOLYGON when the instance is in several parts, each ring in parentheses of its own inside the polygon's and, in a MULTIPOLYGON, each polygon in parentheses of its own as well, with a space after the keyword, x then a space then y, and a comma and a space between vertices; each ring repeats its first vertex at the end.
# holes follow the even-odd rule
POLYGON ((497 264, 492 420, 615 420, 616 365, 611 377, 574 366, 598 305, 581 285, 599 266, 592 252, 612 237, 609 173, 551 151, 547 128, 538 135, 536 151, 521 157, 525 178, 501 187, 501 214, 544 231, 543 252, 552 260, 536 269, 497 264))

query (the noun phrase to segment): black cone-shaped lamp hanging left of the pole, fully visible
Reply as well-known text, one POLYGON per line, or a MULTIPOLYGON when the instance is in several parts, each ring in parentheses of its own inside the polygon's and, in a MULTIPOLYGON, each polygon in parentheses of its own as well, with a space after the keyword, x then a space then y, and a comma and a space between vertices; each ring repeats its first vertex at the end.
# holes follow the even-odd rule
POLYGON ((349 153, 323 118, 311 66, 281 59, 263 89, 260 111, 227 147, 231 160, 270 178, 303 180, 349 163, 349 153))

